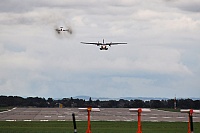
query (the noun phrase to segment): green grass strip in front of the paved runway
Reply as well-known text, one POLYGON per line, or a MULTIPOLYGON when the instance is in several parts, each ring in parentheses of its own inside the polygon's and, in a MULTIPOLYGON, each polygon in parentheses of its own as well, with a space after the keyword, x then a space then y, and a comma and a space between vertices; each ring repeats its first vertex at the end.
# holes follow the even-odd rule
MULTIPOLYGON (((77 122, 78 133, 85 133, 86 121, 77 122)), ((187 133, 185 122, 142 122, 143 133, 187 133)), ((137 122, 91 122, 92 133, 136 133, 137 122)), ((200 133, 200 123, 194 123, 200 133)), ((6 122, 0 121, 0 133, 73 133, 73 123, 67 122, 6 122)))

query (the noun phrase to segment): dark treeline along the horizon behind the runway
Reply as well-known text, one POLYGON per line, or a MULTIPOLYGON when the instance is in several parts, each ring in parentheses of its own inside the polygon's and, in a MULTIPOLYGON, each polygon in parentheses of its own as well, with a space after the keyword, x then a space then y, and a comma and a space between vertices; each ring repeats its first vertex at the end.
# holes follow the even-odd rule
MULTIPOLYGON (((54 100, 53 98, 27 97, 19 96, 0 96, 0 107, 102 107, 102 108, 174 108, 174 99, 168 100, 150 100, 143 101, 139 99, 134 100, 92 100, 86 101, 83 99, 63 98, 54 100)), ((200 109, 200 100, 192 99, 177 99, 176 107, 181 109, 200 109)))

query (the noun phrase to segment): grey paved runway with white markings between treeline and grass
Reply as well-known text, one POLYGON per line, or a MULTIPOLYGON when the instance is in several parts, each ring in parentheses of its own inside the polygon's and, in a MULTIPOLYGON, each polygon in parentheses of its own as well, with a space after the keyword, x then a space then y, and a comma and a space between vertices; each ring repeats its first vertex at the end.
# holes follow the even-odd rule
MULTIPOLYGON (((100 112, 91 112, 92 121, 137 121, 137 112, 128 108, 100 108, 100 112)), ((78 108, 14 108, 0 112, 0 121, 72 121, 72 113, 77 121, 87 121, 87 112, 78 108)), ((142 121, 186 122, 187 113, 168 112, 151 109, 142 113, 142 121)), ((200 122, 200 114, 193 114, 193 121, 200 122)))

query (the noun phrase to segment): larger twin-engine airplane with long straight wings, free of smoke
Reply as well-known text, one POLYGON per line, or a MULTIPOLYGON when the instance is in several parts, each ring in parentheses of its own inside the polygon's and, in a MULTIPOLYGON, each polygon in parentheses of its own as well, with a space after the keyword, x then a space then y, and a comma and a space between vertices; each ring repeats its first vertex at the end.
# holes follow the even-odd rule
POLYGON ((113 42, 105 43, 104 39, 103 39, 102 43, 101 42, 81 42, 81 43, 83 43, 83 44, 93 44, 93 45, 100 46, 100 50, 108 50, 107 46, 111 47, 111 45, 127 44, 127 43, 113 43, 113 42))

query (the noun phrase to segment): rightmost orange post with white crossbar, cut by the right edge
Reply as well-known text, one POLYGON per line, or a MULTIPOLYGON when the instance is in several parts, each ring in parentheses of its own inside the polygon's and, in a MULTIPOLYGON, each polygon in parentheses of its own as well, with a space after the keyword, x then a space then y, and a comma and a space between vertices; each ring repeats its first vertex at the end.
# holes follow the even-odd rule
POLYGON ((188 113, 188 133, 194 133, 193 128, 193 113, 200 113, 200 110, 181 109, 181 113, 188 113))

